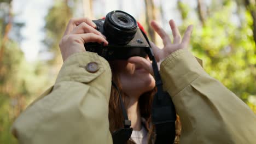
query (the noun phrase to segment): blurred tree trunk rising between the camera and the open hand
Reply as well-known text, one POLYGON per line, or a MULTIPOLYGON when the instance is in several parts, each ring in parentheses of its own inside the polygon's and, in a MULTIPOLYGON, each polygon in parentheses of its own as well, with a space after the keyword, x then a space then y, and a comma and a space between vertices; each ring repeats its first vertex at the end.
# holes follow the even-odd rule
POLYGON ((145 5, 146 5, 146 23, 147 23, 147 31, 148 31, 148 35, 151 41, 153 41, 153 43, 156 42, 156 38, 155 38, 155 31, 150 28, 150 21, 155 20, 156 16, 155 16, 155 5, 153 0, 145 0, 145 5))

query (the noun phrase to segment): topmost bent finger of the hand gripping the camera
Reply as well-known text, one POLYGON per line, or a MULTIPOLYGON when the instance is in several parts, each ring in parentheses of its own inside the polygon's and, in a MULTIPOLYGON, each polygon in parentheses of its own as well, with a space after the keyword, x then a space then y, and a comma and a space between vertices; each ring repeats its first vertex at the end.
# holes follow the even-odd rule
POLYGON ((80 25, 80 23, 82 23, 82 22, 85 22, 89 26, 96 28, 96 24, 94 22, 92 22, 92 20, 90 20, 86 17, 73 18, 73 19, 69 20, 64 35, 69 34, 76 26, 80 25))

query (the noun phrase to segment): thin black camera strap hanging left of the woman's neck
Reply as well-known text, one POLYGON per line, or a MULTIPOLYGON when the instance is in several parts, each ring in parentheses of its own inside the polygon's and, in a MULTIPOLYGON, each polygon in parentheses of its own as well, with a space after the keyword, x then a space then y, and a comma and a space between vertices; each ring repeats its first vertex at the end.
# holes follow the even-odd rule
POLYGON ((121 105, 121 109, 123 111, 123 116, 124 116, 124 128, 120 128, 120 129, 114 131, 114 133, 112 133, 112 139, 113 139, 114 144, 126 143, 130 139, 131 134, 132 134, 132 128, 130 128, 131 121, 128 119, 127 112, 125 110, 120 91, 119 91, 117 85, 115 85, 115 83, 113 81, 112 81, 112 86, 115 89, 117 89, 117 91, 118 91, 120 105, 121 105))

